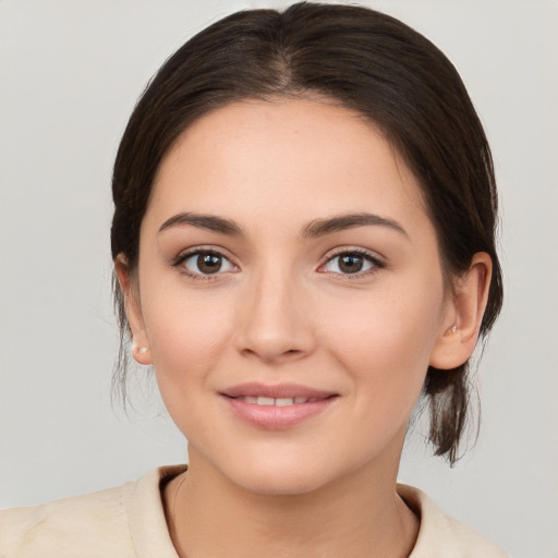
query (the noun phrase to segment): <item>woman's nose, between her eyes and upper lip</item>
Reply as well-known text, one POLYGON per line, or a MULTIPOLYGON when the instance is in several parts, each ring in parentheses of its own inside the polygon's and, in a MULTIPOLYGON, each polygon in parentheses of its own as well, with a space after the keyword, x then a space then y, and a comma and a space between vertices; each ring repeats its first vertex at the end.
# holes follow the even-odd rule
POLYGON ((246 284, 235 329, 238 350, 267 364, 307 356, 316 345, 310 293, 292 274, 268 269, 246 284))

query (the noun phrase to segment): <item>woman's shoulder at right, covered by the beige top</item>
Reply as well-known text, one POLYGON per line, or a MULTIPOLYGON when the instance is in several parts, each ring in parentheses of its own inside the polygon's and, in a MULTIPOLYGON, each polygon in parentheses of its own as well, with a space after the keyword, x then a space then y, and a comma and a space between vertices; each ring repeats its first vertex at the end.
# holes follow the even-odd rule
POLYGON ((421 527, 410 558, 506 558, 483 535, 447 515, 423 492, 398 485, 399 495, 421 518, 421 527))

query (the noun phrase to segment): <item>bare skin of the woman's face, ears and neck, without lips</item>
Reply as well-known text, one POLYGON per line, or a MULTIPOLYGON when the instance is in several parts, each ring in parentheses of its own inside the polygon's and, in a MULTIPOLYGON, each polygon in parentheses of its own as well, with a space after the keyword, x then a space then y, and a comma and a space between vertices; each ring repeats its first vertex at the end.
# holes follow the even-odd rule
POLYGON ((181 556, 409 556, 418 521, 396 487, 408 422, 428 365, 452 368, 473 351, 490 260, 476 254, 447 292, 420 185, 377 130, 318 100, 205 116, 160 166, 137 270, 123 256, 116 267, 134 357, 154 364, 189 440, 189 471, 165 490, 181 556), (397 225, 302 232, 363 211, 397 225), (242 234, 160 230, 181 213, 242 234), (195 255, 177 265, 196 248, 221 253, 220 271, 204 277, 195 255), (339 254, 355 250, 364 270, 343 272, 339 254), (246 381, 336 397, 272 430, 222 397, 246 381))

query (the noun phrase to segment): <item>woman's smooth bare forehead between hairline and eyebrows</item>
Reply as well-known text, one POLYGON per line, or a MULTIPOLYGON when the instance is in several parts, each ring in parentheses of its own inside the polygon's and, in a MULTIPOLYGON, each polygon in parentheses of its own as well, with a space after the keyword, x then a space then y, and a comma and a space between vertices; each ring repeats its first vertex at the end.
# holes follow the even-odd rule
POLYGON ((373 124, 302 99, 235 102, 197 120, 165 157, 149 205, 159 219, 179 210, 282 210, 293 222, 362 210, 425 217, 416 179, 373 124))

